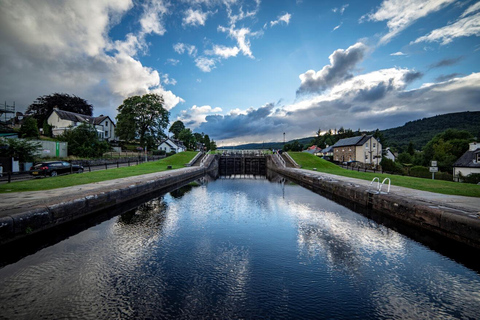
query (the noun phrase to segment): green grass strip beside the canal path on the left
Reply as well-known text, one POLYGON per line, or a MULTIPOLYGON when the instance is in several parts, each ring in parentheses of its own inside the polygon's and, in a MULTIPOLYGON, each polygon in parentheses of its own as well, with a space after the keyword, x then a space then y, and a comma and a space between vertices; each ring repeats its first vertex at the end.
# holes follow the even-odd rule
POLYGON ((173 156, 161 159, 159 161, 147 162, 138 166, 113 168, 94 172, 84 172, 82 174, 69 174, 51 178, 37 178, 27 181, 18 181, 12 183, 0 184, 0 193, 19 192, 19 191, 37 191, 56 188, 71 187, 80 184, 113 180, 125 177, 138 176, 147 173, 166 171, 167 166, 172 169, 183 168, 186 163, 195 157, 197 152, 185 151, 173 156))

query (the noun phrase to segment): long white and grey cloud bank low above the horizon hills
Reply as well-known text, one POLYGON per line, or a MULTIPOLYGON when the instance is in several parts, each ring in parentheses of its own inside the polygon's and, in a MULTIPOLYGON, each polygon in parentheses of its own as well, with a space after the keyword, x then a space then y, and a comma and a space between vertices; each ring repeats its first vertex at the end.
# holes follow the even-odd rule
POLYGON ((442 113, 480 111, 480 73, 407 90, 421 73, 390 68, 350 78, 291 105, 207 116, 199 130, 223 144, 309 137, 321 128, 386 129, 442 113), (461 108, 459 108, 461 106, 461 108))

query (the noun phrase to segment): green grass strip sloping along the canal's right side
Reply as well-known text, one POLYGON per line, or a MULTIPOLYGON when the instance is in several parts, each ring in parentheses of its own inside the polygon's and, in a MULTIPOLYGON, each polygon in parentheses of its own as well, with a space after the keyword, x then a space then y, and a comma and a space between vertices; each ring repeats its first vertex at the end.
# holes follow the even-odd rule
POLYGON ((430 180, 415 177, 398 176, 391 174, 358 172, 340 168, 339 166, 316 157, 306 152, 288 153, 302 169, 313 170, 317 168, 319 172, 336 174, 339 176, 372 181, 374 177, 379 177, 380 181, 384 178, 390 178, 392 185, 406 187, 416 190, 430 191, 441 194, 450 194, 457 196, 480 197, 480 186, 468 183, 459 183, 444 180, 430 180))

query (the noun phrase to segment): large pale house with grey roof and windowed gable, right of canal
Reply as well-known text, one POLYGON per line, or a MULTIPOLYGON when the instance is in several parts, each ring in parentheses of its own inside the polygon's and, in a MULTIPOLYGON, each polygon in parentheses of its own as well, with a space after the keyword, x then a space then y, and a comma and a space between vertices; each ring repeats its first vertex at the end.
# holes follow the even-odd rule
POLYGON ((382 144, 372 135, 341 139, 332 147, 334 161, 378 165, 382 160, 382 144))

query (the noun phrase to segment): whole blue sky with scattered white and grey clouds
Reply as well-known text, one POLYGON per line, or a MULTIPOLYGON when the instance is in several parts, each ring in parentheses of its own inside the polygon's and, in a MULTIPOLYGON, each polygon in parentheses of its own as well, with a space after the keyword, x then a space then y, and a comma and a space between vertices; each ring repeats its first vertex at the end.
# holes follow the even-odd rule
POLYGON ((0 101, 157 93, 219 146, 480 111, 480 2, 0 0, 0 101))

